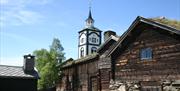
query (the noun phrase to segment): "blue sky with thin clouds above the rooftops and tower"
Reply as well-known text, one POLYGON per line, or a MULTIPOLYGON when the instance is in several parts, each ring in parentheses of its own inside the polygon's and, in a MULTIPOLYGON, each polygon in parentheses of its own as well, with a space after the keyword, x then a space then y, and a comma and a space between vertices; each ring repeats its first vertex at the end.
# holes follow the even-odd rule
MULTIPOLYGON (((59 38, 66 58, 78 56, 78 31, 89 0, 0 0, 0 64, 22 65, 23 55, 59 38)), ((95 26, 121 35, 137 16, 180 20, 180 0, 92 0, 95 26)))

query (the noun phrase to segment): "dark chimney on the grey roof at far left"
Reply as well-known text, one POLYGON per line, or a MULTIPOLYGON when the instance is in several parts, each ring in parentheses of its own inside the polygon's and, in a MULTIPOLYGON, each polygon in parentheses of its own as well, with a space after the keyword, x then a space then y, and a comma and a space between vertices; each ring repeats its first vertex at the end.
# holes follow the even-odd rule
POLYGON ((24 55, 24 64, 23 64, 23 69, 25 72, 32 72, 34 71, 34 59, 35 56, 28 54, 24 55))

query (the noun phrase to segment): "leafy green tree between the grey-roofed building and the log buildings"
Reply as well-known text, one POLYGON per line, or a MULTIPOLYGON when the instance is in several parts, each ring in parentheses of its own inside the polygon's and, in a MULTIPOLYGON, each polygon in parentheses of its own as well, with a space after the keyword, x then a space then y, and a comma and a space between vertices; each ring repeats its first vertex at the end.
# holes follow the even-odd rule
POLYGON ((54 87, 61 77, 59 70, 61 61, 65 59, 64 48, 60 40, 53 39, 50 50, 35 50, 33 54, 36 56, 36 68, 40 73, 38 80, 38 89, 47 89, 54 87))

